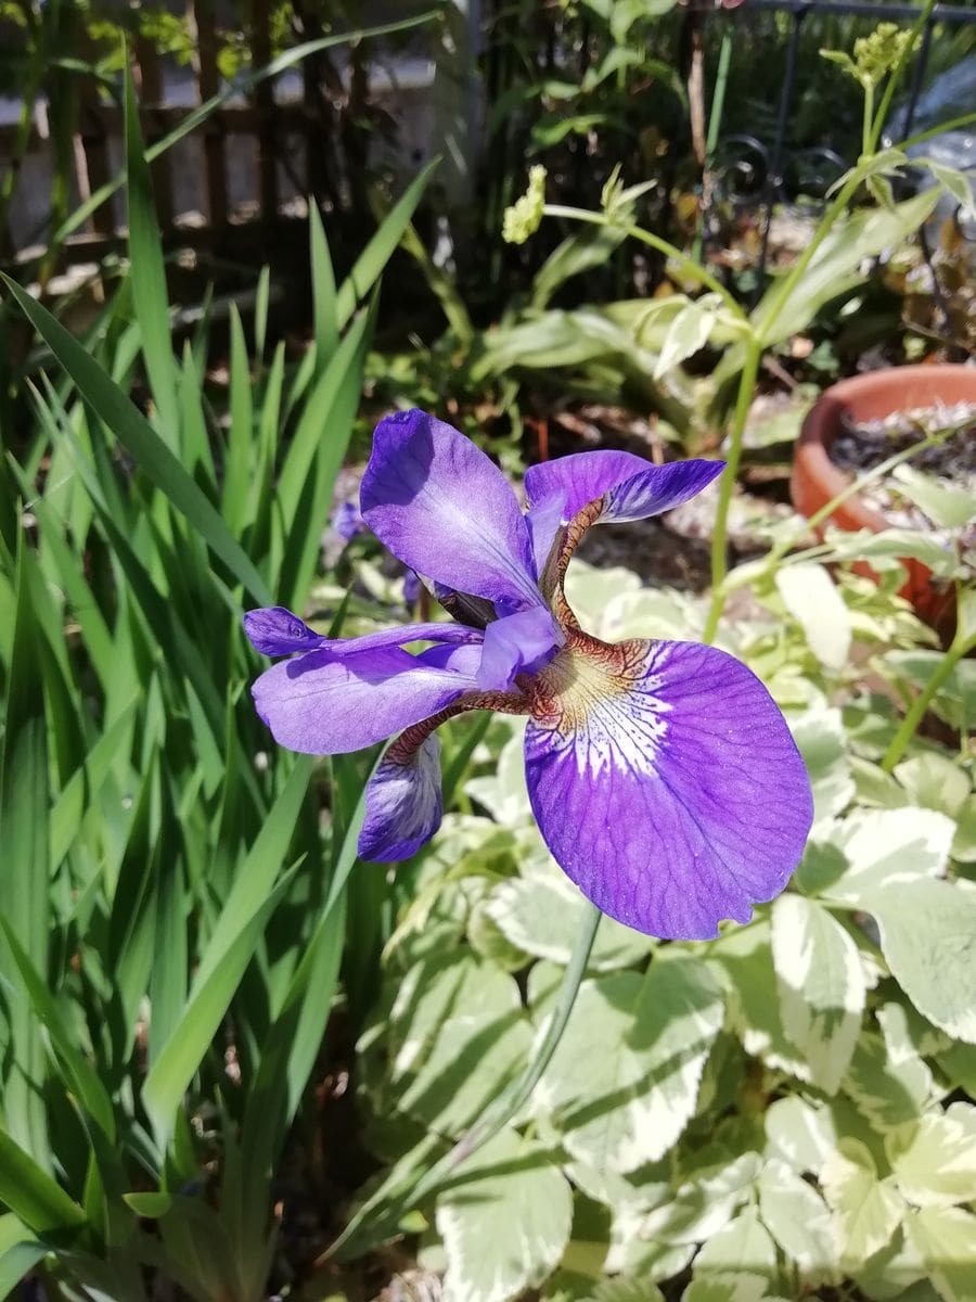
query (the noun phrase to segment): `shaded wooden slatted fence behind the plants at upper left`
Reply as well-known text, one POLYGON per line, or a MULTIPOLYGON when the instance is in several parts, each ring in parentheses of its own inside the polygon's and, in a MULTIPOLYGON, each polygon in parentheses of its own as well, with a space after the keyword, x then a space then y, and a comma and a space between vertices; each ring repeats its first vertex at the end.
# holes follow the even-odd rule
MULTIPOLYGON (((252 0, 247 40, 255 68, 272 57, 269 18, 269 0, 252 0)), ((182 70, 180 99, 191 103, 172 103, 154 44, 143 38, 133 42, 147 146, 178 128, 223 86, 212 3, 186 0, 186 20, 194 55, 182 70)), ((293 94, 282 102, 272 79, 258 82, 246 99, 236 96, 223 104, 156 159, 152 180, 164 237, 178 236, 185 245, 219 253, 246 254, 249 247, 268 242, 269 224, 303 216, 307 197, 327 207, 338 206, 337 190, 346 191, 347 199, 344 172, 351 171, 349 164, 355 159, 346 159, 344 167, 342 151, 349 152, 349 142, 359 129, 355 115, 367 94, 357 53, 350 56, 345 81, 328 56, 314 55, 295 68, 290 87, 293 94), (357 95, 363 96, 360 103, 357 95)), ((70 94, 73 174, 68 211, 118 174, 124 138, 121 108, 105 98, 95 78, 72 73, 70 94)), ((397 92, 398 109, 411 95, 415 98, 410 89, 397 92)), ((40 120, 35 115, 26 139, 16 124, 0 124, 0 176, 10 167, 16 168, 13 199, 0 228, 0 262, 8 263, 39 255, 51 240, 56 163, 43 115, 40 120)), ((98 259, 118 243, 124 224, 124 199, 117 193, 69 237, 60 251, 62 262, 98 259)))

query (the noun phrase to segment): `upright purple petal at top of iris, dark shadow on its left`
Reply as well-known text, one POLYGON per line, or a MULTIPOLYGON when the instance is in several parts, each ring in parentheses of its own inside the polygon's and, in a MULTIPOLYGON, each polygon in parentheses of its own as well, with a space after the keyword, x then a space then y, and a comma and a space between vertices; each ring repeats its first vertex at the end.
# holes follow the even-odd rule
POLYGON ((539 605, 528 529, 505 475, 423 411, 380 421, 359 495, 363 518, 411 569, 518 608, 539 605))

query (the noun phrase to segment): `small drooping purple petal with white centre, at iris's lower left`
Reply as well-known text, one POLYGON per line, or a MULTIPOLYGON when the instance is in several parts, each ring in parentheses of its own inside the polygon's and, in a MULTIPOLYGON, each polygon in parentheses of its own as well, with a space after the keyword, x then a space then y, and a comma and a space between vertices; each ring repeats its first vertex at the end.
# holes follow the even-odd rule
POLYGON ((436 736, 419 746, 396 741, 366 788, 359 833, 363 859, 409 859, 441 825, 441 746, 436 736))

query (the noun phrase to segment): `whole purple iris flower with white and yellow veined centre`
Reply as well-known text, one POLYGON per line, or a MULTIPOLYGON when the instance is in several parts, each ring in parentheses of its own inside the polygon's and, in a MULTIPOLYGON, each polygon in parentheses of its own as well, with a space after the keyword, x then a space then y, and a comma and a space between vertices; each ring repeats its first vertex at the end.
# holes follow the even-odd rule
POLYGON ((433 836, 436 728, 498 710, 528 716, 532 812, 604 913, 649 935, 704 940, 783 889, 812 799, 766 689, 714 647, 600 642, 563 594, 592 525, 670 510, 721 470, 584 452, 530 467, 523 513, 501 470, 449 424, 423 411, 380 422, 363 518, 458 622, 329 641, 277 607, 245 616, 259 651, 294 656, 254 685, 280 745, 333 755, 398 733, 366 792, 364 859, 409 858, 433 836))

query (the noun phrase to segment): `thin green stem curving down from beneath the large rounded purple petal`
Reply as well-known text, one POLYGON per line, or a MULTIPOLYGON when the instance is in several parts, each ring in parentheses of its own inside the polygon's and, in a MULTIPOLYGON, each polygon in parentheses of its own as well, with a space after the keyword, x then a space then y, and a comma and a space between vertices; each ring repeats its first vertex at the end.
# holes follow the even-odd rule
POLYGON ((336 1256, 336 1254, 347 1255, 349 1245, 354 1241, 357 1230, 363 1224, 368 1226, 371 1243, 376 1243, 388 1234, 394 1233, 396 1226, 409 1211, 419 1207, 424 1200, 439 1193, 444 1185, 449 1184, 458 1167, 493 1139, 519 1112, 541 1079, 566 1030, 587 963, 590 962, 590 953, 593 948, 596 930, 600 926, 601 918, 603 914, 600 910, 587 902, 583 922, 576 934, 573 953, 570 954, 569 965, 562 976, 562 984, 556 996, 556 1006, 553 1008, 552 1017, 522 1075, 513 1081, 508 1090, 484 1111, 449 1152, 428 1167, 423 1176, 407 1190, 397 1194, 392 1204, 388 1204, 384 1211, 375 1215, 376 1207, 372 1203, 366 1203, 360 1207, 342 1234, 316 1260, 316 1266, 324 1264, 329 1258, 336 1256))

